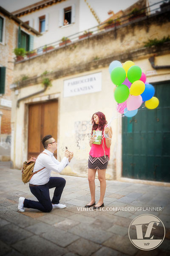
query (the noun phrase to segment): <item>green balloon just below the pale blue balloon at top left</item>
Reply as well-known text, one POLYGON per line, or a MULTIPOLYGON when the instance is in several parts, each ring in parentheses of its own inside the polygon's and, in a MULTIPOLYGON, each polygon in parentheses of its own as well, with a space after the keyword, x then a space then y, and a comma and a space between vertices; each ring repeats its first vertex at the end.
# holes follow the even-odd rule
POLYGON ((120 85, 126 79, 126 71, 122 67, 115 67, 111 72, 111 81, 113 84, 120 85))

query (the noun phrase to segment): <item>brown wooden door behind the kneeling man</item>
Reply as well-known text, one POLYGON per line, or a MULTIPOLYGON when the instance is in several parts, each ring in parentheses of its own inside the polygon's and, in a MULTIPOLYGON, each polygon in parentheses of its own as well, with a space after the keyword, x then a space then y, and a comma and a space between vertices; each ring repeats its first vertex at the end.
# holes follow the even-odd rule
MULTIPOLYGON (((44 150, 41 140, 51 134, 57 141, 58 102, 42 102, 29 105, 28 111, 28 159, 37 157, 44 150)), ((57 151, 54 152, 57 158, 57 151)))

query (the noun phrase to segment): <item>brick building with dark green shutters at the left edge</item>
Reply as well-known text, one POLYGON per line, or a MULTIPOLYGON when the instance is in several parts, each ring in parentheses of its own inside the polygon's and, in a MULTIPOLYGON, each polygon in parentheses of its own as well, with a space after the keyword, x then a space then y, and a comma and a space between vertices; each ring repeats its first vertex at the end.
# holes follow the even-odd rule
POLYGON ((0 7, 0 160, 10 160, 11 90, 14 81, 14 48, 17 47, 18 27, 29 35, 40 33, 31 29, 0 7), (20 25, 21 23, 21 25, 20 25))

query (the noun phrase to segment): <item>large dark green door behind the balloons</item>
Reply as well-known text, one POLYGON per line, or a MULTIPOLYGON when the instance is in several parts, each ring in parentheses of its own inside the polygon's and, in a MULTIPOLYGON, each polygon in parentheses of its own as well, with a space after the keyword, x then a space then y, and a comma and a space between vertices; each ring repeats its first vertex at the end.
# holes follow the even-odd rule
POLYGON ((122 177, 170 182, 170 81, 153 86, 158 108, 122 118, 122 177))

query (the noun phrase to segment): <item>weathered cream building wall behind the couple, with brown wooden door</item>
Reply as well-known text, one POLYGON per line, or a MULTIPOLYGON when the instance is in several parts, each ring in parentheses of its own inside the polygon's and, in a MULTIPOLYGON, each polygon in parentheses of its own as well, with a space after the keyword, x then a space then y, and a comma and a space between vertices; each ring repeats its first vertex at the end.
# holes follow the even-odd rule
MULTIPOLYGON (((160 12, 123 26, 101 31, 85 40, 77 40, 29 61, 15 64, 14 79, 20 83, 13 88, 12 101, 11 160, 14 167, 20 168, 28 155, 38 154, 38 150, 41 149, 40 140, 36 145, 34 141, 37 141, 37 137, 45 135, 43 131, 49 132, 50 129, 52 131, 55 123, 57 158, 60 160, 63 157, 65 146, 74 151, 73 161, 62 173, 87 177, 91 116, 96 111, 102 111, 108 121, 113 118, 111 157, 106 177, 122 181, 130 179, 133 182, 133 175, 130 178, 123 175, 123 118, 116 112, 113 96, 115 85, 111 82, 108 66, 113 60, 122 63, 132 60, 147 75, 147 82, 168 83, 169 67, 155 70, 149 59, 154 57, 154 64, 158 66, 170 65, 170 43, 164 43, 161 47, 153 45, 151 48, 146 48, 144 41, 162 39, 167 35, 169 26, 169 12, 160 12), (29 78, 21 81, 23 76, 29 78), (42 85, 45 78, 51 80, 52 86, 42 85), (94 86, 91 87, 89 81, 93 80, 96 84, 94 82, 94 86), (48 104, 54 104, 54 108, 48 108, 48 104), (54 110, 52 114, 50 108, 54 110), (41 116, 42 112, 48 113, 46 116, 44 114, 44 119, 50 116, 46 123, 41 116), (33 118, 33 115, 37 117, 33 118), (29 130, 33 126, 34 129, 30 133, 29 130), (30 138, 31 134, 33 140, 30 138)), ((136 180, 150 184, 168 182, 168 178, 163 180, 147 176, 136 180)))

